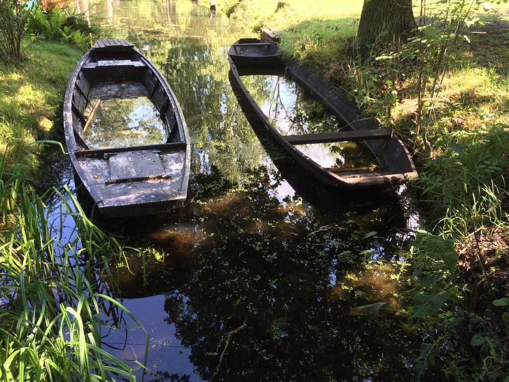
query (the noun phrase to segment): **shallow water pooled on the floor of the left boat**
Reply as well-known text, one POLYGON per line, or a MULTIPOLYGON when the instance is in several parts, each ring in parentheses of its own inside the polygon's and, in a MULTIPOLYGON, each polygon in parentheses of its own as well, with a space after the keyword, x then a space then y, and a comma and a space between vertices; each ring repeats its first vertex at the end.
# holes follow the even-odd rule
POLYGON ((95 85, 90 98, 83 137, 91 149, 166 142, 164 122, 142 84, 95 85))

